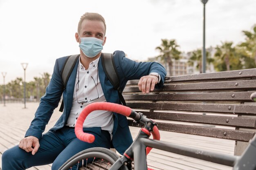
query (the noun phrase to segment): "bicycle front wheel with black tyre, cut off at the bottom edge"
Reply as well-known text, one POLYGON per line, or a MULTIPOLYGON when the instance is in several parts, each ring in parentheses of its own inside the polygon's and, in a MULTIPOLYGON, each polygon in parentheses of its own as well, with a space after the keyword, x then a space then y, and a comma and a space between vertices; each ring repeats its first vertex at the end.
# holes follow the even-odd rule
MULTIPOLYGON (((110 149, 90 148, 68 159, 58 170, 108 170, 118 158, 119 156, 110 149)), ((119 170, 128 168, 123 165, 119 170)))

